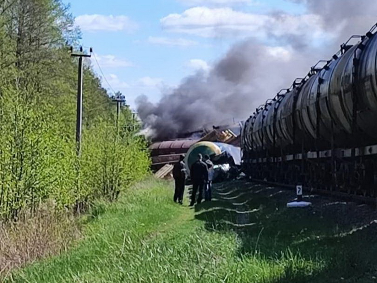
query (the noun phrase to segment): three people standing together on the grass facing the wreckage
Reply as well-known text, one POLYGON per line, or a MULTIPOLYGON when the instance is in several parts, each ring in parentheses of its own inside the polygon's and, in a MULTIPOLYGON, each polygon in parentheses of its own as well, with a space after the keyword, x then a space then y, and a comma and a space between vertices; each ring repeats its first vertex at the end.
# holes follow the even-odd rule
MULTIPOLYGON (((184 163, 184 155, 179 157, 179 161, 175 163, 173 167, 173 178, 175 180, 175 192, 173 200, 178 201, 179 204, 183 203, 183 194, 185 189, 185 180, 187 177, 187 171, 184 163)), ((198 154, 198 160, 193 163, 190 168, 190 176, 192 181, 192 194, 190 206, 195 204, 196 193, 199 192, 197 203, 201 203, 203 200, 210 201, 212 198, 212 179, 213 179, 213 163, 209 155, 198 154)))

